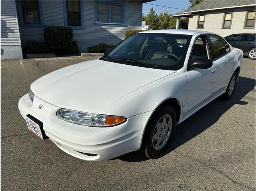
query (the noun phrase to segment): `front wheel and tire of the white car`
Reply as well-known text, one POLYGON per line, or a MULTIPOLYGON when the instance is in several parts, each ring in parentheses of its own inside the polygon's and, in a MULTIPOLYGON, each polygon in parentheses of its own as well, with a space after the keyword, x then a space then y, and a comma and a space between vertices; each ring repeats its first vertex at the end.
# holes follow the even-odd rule
POLYGON ((159 158, 170 145, 175 128, 174 107, 166 105, 157 109, 146 126, 140 148, 142 154, 150 159, 159 158))

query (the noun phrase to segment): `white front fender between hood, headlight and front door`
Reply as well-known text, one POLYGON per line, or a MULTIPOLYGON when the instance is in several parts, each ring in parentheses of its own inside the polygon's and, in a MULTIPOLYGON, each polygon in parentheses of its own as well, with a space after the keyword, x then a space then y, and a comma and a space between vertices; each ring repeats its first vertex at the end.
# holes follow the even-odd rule
POLYGON ((175 98, 181 106, 181 117, 185 109, 187 79, 184 69, 152 82, 109 105, 102 113, 132 117, 154 111, 163 101, 175 98))

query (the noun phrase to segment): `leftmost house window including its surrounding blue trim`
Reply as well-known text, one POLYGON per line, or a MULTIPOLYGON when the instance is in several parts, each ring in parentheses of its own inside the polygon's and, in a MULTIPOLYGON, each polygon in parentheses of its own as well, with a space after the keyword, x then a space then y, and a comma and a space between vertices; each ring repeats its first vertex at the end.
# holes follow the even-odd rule
POLYGON ((42 2, 38 0, 18 1, 18 11, 21 25, 42 26, 42 2))

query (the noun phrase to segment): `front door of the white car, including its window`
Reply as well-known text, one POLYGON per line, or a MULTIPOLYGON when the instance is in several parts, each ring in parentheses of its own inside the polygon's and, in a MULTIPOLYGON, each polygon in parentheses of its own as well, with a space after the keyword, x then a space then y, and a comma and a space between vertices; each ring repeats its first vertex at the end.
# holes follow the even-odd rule
MULTIPOLYGON (((194 41, 190 59, 202 57, 211 60, 209 43, 206 35, 199 36, 194 41)), ((185 115, 187 115, 215 95, 218 64, 213 62, 212 67, 208 69, 186 70, 185 74, 188 80, 185 106, 185 115)))

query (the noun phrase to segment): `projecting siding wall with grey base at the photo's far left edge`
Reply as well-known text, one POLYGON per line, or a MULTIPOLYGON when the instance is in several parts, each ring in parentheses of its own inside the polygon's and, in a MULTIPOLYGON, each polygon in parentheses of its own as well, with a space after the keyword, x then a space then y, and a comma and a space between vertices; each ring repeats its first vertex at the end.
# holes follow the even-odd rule
POLYGON ((14 0, 1 1, 1 60, 22 58, 16 5, 14 0))

